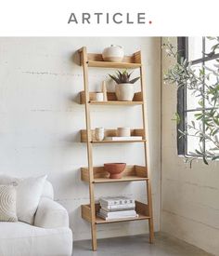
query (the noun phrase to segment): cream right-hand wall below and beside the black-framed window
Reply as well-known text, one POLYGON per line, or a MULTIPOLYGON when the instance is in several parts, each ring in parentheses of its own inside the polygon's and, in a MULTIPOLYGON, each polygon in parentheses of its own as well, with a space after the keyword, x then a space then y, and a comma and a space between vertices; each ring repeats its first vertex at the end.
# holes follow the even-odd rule
MULTIPOLYGON (((171 63, 163 52, 162 70, 171 63)), ((162 85, 161 230, 219 255, 219 163, 189 168, 177 156, 175 112, 176 88, 162 85)))

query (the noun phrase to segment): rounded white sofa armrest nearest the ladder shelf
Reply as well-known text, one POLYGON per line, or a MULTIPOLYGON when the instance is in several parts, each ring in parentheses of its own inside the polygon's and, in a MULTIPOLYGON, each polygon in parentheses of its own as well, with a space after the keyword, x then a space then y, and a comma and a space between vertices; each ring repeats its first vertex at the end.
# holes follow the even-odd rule
POLYGON ((57 202, 42 197, 35 214, 34 225, 43 228, 69 227, 69 214, 57 202))

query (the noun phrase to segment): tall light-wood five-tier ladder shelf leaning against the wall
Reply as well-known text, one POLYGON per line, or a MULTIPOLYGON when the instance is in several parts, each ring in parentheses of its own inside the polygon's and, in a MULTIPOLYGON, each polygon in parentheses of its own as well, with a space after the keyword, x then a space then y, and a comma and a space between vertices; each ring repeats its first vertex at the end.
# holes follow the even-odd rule
MULTIPOLYGON (((82 181, 89 184, 89 205, 82 205, 82 218, 91 224, 92 235, 92 249, 97 250, 97 224, 110 223, 110 222, 130 222, 147 220, 149 228, 149 242, 152 243, 154 239, 153 230, 153 215, 152 215, 152 195, 150 184, 150 173, 148 169, 148 137, 147 137, 147 120, 146 120, 146 101, 145 101, 145 68, 141 60, 141 51, 135 52, 132 56, 125 56, 122 62, 107 62, 103 61, 101 54, 87 53, 86 47, 82 47, 78 50, 80 55, 80 64, 83 66, 84 71, 84 91, 80 94, 81 103, 85 105, 85 119, 86 129, 81 130, 81 141, 86 142, 87 145, 87 157, 88 168, 81 168, 82 181), (129 68, 140 69, 140 82, 141 91, 135 93, 133 101, 117 101, 114 93, 108 93, 108 101, 95 101, 95 92, 90 92, 88 88, 88 67, 95 68, 129 68), (143 128, 132 130, 133 136, 142 136, 143 140, 136 141, 95 141, 94 130, 91 129, 90 118, 90 106, 97 105, 141 105, 142 106, 142 121, 143 128), (105 143, 110 144, 112 142, 142 142, 144 143, 144 155, 145 155, 145 167, 141 166, 127 166, 123 172, 122 179, 114 180, 108 178, 108 173, 103 167, 93 166, 93 144, 105 143), (135 201, 135 210, 138 213, 138 217, 105 221, 97 217, 97 211, 99 210, 99 204, 95 202, 94 186, 96 183, 111 183, 111 182, 146 182, 146 198, 147 204, 135 201)), ((114 134, 115 130, 106 130, 108 134, 114 134)))

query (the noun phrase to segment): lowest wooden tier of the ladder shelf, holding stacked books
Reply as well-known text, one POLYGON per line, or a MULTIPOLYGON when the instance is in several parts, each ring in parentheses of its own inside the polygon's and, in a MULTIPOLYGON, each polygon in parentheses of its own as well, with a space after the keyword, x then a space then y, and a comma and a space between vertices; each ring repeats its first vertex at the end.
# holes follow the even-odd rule
MULTIPOLYGON (((96 204, 96 213, 100 209, 100 205, 96 204)), ((87 221, 91 222, 91 208, 90 205, 82 205, 82 218, 87 221)), ((150 219, 149 211, 148 211, 148 205, 135 201, 135 210, 138 214, 138 217, 135 218, 127 218, 127 219, 117 219, 117 220, 111 220, 111 221, 105 221, 104 219, 101 219, 96 215, 96 223, 97 224, 104 224, 104 223, 111 223, 111 222, 131 222, 131 221, 141 221, 141 220, 148 220, 150 219)))

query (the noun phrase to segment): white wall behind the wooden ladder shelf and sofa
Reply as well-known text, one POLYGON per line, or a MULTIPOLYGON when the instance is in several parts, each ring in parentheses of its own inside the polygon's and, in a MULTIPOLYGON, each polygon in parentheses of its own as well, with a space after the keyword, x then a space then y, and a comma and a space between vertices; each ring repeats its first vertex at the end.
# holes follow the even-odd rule
MULTIPOLYGON (((17 37, 0 38, 0 172, 19 177, 48 174, 56 200, 70 213, 75 239, 90 238, 90 226, 81 219, 80 205, 88 203, 88 186, 80 180, 86 166, 85 144, 79 130, 85 128, 83 71, 75 61, 76 50, 88 47, 101 52, 111 43, 126 54, 142 49, 147 74, 147 103, 151 145, 151 171, 155 229, 160 223, 161 169, 161 39, 109 37, 17 37)), ((109 70, 90 72, 91 88, 99 88, 109 70)), ((141 127, 139 107, 94 107, 93 127, 141 127), (135 125, 136 124, 136 125, 135 125)), ((126 161, 143 164, 141 145, 97 145, 95 164, 126 161)), ((144 184, 97 185, 99 195, 134 195, 144 200, 144 184)), ((145 233, 147 222, 101 225, 98 237, 145 233)))

